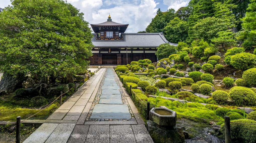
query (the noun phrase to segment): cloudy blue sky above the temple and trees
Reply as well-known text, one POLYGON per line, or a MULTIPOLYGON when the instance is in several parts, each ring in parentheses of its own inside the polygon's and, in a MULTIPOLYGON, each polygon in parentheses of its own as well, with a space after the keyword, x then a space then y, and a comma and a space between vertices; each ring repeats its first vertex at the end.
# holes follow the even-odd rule
MULTIPOLYGON (((90 24, 107 21, 109 13, 112 21, 129 24, 125 33, 145 31, 158 8, 161 11, 187 6, 190 0, 67 0, 84 13, 84 20, 90 24)), ((0 0, 0 7, 11 5, 9 0, 0 0)))

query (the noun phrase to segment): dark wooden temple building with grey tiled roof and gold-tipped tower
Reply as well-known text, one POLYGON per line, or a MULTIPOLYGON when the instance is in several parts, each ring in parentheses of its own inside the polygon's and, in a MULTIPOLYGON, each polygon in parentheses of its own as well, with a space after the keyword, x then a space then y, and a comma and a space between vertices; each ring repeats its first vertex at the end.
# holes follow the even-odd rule
POLYGON ((163 33, 125 33, 129 24, 108 20, 99 24, 91 24, 93 30, 93 56, 90 65, 126 65, 131 61, 150 59, 157 62, 156 47, 169 43, 163 33))

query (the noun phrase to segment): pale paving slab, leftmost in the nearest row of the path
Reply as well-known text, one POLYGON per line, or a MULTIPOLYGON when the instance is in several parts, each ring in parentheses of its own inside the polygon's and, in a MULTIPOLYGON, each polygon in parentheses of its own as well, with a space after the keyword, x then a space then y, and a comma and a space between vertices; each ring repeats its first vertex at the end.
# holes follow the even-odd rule
POLYGON ((23 143, 44 143, 59 124, 44 123, 23 143))

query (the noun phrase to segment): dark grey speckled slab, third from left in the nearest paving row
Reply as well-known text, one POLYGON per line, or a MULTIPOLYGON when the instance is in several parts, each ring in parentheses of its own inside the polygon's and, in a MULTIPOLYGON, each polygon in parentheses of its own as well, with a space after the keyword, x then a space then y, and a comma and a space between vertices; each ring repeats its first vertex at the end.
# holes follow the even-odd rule
POLYGON ((67 143, 84 143, 88 130, 89 125, 76 125, 67 143))

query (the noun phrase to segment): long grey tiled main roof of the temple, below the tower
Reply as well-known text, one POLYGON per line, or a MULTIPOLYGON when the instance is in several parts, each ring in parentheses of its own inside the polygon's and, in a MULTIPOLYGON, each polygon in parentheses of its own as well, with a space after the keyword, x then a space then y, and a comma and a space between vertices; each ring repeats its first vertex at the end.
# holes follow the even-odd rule
POLYGON ((93 33, 92 44, 95 47, 158 47, 161 44, 169 43, 163 33, 123 33, 124 40, 96 40, 93 33))

